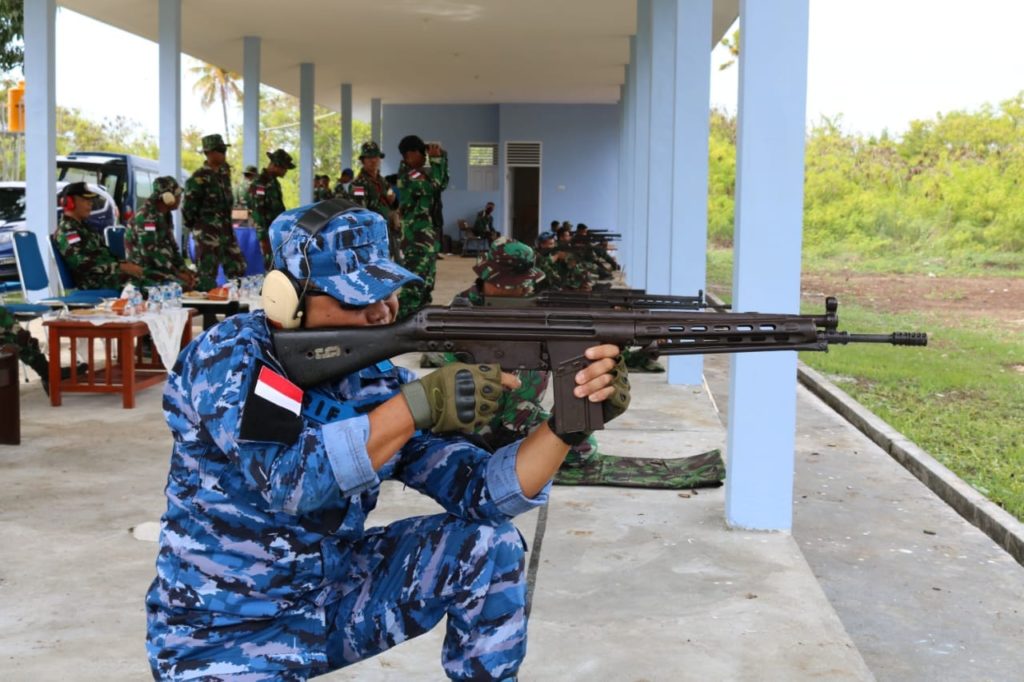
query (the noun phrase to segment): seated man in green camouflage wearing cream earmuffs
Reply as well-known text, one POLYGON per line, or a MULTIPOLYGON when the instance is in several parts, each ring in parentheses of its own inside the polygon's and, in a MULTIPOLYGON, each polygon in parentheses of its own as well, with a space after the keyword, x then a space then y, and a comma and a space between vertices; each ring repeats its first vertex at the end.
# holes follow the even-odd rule
POLYGON ((145 282, 178 282, 185 291, 196 286, 196 273, 185 265, 174 239, 171 214, 181 206, 181 185, 170 175, 153 181, 153 194, 125 233, 128 262, 142 268, 145 282))

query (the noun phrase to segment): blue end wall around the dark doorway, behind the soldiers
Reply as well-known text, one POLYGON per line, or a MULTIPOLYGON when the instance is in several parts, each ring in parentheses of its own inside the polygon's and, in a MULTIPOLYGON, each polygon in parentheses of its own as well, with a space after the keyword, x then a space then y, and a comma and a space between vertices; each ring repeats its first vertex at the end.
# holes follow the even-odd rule
POLYGON ((617 229, 618 110, 614 104, 385 104, 381 148, 385 174, 401 159, 398 140, 417 134, 447 150, 451 182, 444 193, 444 231, 459 239, 458 220, 472 222, 488 201, 495 226, 505 230, 505 142, 538 141, 541 228, 552 220, 617 229), (499 144, 498 191, 469 191, 471 142, 499 144))

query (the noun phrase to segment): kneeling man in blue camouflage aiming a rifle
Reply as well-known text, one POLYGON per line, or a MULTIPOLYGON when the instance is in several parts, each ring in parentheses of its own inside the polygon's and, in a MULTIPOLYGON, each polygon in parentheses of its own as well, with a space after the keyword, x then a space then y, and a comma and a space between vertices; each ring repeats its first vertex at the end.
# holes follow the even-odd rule
MULTIPOLYGON (((543 424, 494 453, 466 439, 514 385, 493 366, 417 380, 382 361, 300 389, 273 334, 391 324, 418 278, 389 260, 384 218, 343 200, 286 211, 270 240, 264 309, 205 332, 168 378, 174 449, 145 600, 154 675, 304 680, 446 616, 444 674, 514 680, 526 580, 511 519, 545 503, 579 434, 543 424), (445 511, 372 527, 385 478, 445 511)), ((605 420, 629 402, 617 354, 589 348, 577 377, 605 420)))

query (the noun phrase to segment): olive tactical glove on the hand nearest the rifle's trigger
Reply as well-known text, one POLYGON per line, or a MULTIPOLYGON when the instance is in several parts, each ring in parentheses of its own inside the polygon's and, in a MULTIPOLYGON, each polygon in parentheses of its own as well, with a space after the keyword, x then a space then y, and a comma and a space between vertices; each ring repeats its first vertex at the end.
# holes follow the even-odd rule
POLYGON ((416 428, 472 433, 498 412, 502 371, 496 365, 454 363, 400 390, 416 428))

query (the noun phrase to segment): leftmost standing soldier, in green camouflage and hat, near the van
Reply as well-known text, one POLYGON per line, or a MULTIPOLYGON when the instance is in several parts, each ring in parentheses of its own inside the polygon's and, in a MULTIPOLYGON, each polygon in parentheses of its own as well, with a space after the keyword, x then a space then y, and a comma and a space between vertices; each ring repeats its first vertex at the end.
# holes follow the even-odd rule
POLYGON ((217 286, 217 266, 224 276, 241 278, 246 273, 246 259, 231 227, 231 168, 227 165, 227 145, 220 135, 203 137, 206 163, 196 169, 185 182, 181 218, 196 241, 196 288, 209 291, 217 286))

